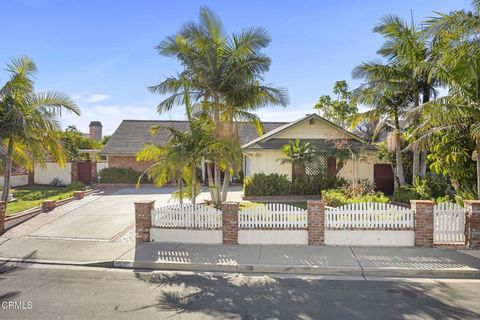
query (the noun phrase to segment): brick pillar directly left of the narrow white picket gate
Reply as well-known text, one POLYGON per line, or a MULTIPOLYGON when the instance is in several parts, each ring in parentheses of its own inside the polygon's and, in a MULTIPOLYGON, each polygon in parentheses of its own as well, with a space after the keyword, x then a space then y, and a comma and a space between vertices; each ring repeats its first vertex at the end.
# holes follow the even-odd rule
POLYGON ((410 200, 415 221, 415 245, 433 246, 433 201, 410 200))

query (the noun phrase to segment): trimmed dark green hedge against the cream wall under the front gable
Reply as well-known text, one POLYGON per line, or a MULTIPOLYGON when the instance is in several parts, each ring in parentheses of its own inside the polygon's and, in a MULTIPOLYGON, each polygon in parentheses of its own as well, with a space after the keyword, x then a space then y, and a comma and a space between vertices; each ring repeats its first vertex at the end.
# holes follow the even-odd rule
POLYGON ((287 175, 256 173, 243 180, 245 196, 283 196, 290 194, 291 182, 287 175))

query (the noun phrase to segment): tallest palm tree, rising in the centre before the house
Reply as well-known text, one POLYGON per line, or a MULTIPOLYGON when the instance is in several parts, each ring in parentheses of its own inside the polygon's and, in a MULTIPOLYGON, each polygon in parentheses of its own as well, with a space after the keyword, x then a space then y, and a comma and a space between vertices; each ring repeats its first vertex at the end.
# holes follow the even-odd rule
MULTIPOLYGON (((266 104, 285 106, 286 91, 262 83, 262 75, 269 70, 271 60, 261 51, 269 42, 270 37, 262 28, 227 35, 220 18, 202 7, 198 23, 185 24, 177 34, 157 46, 161 55, 177 59, 184 68, 180 75, 150 87, 154 93, 170 94, 158 105, 158 112, 184 103, 183 79, 188 79, 192 101, 211 114, 217 138, 231 139, 233 120, 244 111, 250 113, 266 104), (233 112, 235 109, 237 112, 233 112)), ((216 193, 214 200, 219 202, 226 198, 227 189, 224 188, 222 196, 220 165, 214 168, 209 180, 216 193)), ((210 171, 212 163, 209 162, 210 171)))

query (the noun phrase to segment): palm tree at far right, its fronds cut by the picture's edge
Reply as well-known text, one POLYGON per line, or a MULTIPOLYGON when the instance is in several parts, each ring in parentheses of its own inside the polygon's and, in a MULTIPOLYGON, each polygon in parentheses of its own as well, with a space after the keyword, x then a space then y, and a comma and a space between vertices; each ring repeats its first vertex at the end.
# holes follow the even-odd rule
POLYGON ((477 196, 480 196, 480 1, 473 11, 438 14, 427 21, 426 35, 435 46, 432 74, 448 94, 418 108, 423 116, 417 144, 437 132, 467 131, 476 143, 477 196))

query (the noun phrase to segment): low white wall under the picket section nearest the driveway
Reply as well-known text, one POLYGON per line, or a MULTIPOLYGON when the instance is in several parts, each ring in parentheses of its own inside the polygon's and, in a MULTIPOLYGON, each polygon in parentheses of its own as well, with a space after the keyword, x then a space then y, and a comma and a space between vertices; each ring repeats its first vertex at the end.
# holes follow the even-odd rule
POLYGON ((183 230, 151 228, 150 241, 219 244, 223 242, 223 235, 222 230, 183 230))

